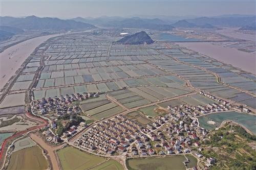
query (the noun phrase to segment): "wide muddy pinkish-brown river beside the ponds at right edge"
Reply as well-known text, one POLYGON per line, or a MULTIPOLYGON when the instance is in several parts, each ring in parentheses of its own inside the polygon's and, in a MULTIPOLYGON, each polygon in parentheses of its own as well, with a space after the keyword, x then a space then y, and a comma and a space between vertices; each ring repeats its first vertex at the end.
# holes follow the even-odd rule
POLYGON ((204 54, 216 60, 241 68, 245 71, 256 74, 256 57, 253 53, 246 53, 236 48, 214 45, 211 42, 179 42, 180 46, 204 54))

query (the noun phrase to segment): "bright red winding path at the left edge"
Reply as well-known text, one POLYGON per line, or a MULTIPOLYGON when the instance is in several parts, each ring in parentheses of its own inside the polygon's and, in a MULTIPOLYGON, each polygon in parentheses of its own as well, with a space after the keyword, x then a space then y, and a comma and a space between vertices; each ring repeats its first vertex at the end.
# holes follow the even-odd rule
POLYGON ((44 122, 44 124, 43 124, 43 125, 38 125, 38 126, 34 126, 34 127, 31 127, 31 128, 28 128, 28 129, 25 130, 25 131, 18 132, 18 133, 16 133, 16 134, 14 134, 14 135, 12 135, 12 136, 6 138, 6 139, 4 140, 4 142, 2 143, 2 149, 1 149, 1 152, 0 152, 0 160, 1 160, 2 157, 5 155, 5 154, 4 154, 4 151, 6 150, 7 143, 8 143, 9 141, 13 140, 14 138, 16 138, 16 137, 18 137, 18 136, 21 136, 21 135, 27 133, 27 132, 30 132, 30 131, 33 131, 33 130, 35 130, 35 129, 39 129, 39 128, 45 127, 45 126, 48 124, 48 122, 47 122, 45 119, 42 119, 42 118, 39 118, 39 117, 35 117, 35 116, 33 116, 32 114, 30 114, 29 112, 27 112, 26 115, 27 115, 27 117, 29 117, 29 118, 37 119, 37 120, 40 121, 40 122, 44 122))

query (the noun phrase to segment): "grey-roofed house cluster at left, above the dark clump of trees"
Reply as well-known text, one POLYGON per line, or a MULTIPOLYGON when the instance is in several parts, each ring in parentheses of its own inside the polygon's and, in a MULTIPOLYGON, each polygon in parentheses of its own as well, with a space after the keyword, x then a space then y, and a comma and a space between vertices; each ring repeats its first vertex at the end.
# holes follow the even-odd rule
POLYGON ((98 97, 99 93, 76 93, 66 94, 60 97, 55 96, 54 98, 42 98, 41 100, 33 101, 33 112, 41 115, 45 115, 49 112, 55 113, 56 116, 64 114, 77 114, 81 112, 80 107, 73 105, 72 102, 82 101, 89 98, 98 97))

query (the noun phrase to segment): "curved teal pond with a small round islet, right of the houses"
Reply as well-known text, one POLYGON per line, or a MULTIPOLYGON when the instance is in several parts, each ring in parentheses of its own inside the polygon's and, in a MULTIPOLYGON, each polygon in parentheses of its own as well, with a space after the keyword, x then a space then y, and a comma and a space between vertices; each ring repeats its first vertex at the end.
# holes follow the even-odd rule
POLYGON ((215 113, 209 114, 206 116, 199 117, 199 126, 204 129, 215 129, 221 125, 224 120, 233 120, 234 122, 243 125, 248 130, 256 134, 256 116, 251 114, 239 113, 239 112, 222 112, 222 113, 215 113), (211 125, 208 124, 208 121, 214 121, 216 124, 211 125))

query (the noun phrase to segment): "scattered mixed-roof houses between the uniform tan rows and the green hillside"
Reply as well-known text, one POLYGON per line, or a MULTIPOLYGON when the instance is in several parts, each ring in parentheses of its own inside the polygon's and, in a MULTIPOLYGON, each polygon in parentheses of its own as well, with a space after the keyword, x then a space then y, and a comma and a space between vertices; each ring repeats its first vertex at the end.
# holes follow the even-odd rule
POLYGON ((132 146, 132 155, 168 155, 189 153, 190 147, 200 147, 200 138, 207 131, 199 128, 196 120, 186 114, 170 113, 165 116, 169 121, 165 126, 142 135, 132 146))

